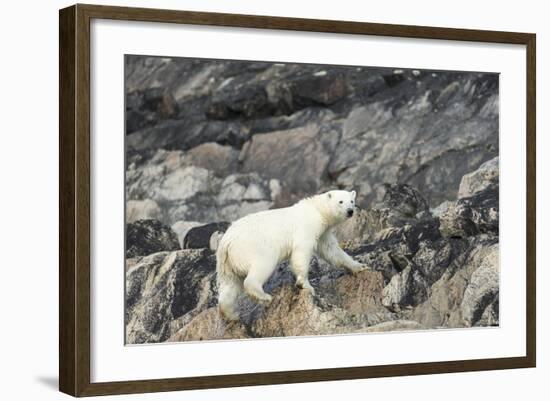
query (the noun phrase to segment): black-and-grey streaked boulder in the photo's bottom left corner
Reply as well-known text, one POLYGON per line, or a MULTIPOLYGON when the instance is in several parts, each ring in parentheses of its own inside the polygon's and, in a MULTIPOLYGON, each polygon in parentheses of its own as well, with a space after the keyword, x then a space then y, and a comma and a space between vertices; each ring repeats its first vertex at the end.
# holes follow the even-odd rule
POLYGON ((162 252, 126 273, 126 342, 162 342, 216 301, 215 257, 207 250, 162 252))

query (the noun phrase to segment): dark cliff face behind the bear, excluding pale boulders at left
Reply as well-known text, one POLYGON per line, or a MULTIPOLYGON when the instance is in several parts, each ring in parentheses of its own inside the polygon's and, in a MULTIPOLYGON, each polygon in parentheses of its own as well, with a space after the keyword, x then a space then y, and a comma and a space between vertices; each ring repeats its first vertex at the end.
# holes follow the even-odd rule
MULTIPOLYGON (((285 191, 271 205, 353 188, 367 208, 382 201, 383 183, 401 183, 433 208, 498 156, 497 74, 128 56, 126 92, 128 154, 147 166, 159 151, 181 152, 221 179, 276 179, 285 191)), ((158 179, 173 169, 157 164, 158 179)), ((128 185, 143 185, 135 179, 128 185)), ((168 225, 170 216, 212 223, 214 193, 193 207, 199 217, 148 199, 168 225)))

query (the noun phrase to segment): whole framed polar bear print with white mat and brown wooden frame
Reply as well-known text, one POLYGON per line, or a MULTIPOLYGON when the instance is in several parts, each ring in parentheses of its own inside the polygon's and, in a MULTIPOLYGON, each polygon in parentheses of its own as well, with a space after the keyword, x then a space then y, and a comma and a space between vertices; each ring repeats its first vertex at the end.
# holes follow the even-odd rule
POLYGON ((61 391, 535 366, 534 34, 59 18, 61 391))

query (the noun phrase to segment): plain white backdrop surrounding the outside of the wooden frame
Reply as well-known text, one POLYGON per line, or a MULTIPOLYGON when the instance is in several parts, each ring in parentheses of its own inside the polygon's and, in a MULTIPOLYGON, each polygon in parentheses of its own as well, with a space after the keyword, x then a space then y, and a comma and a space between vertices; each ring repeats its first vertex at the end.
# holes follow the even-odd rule
MULTIPOLYGON (((98 3, 105 3, 98 1, 98 3)), ((0 367, 3 398, 60 399, 57 381, 57 9, 63 1, 12 2, 2 13, 2 135, 0 171, 3 211, 0 291, 2 330, 0 367), (6 224, 7 222, 7 224, 6 224)), ((118 2, 119 5, 153 6, 153 2, 118 2)), ((298 396, 319 400, 346 395, 350 398, 462 400, 476 398, 544 399, 543 378, 550 374, 549 348, 544 343, 548 321, 543 311, 549 297, 543 293, 549 253, 543 247, 548 237, 550 162, 548 118, 548 61, 550 27, 544 2, 461 1, 451 8, 440 2, 367 4, 338 2, 254 1, 156 1, 154 6, 205 11, 270 14, 296 17, 349 19, 417 25, 531 31, 538 34, 538 368, 514 371, 461 373, 334 383, 295 384, 244 389, 124 396, 120 399, 279 400, 298 396), (529 10, 529 11, 528 11, 529 10), (548 186, 548 185, 547 185, 548 186), (546 227, 544 227, 546 226, 546 227), (537 391, 538 390, 538 391, 537 391)), ((110 399, 107 397, 104 399, 110 399)))

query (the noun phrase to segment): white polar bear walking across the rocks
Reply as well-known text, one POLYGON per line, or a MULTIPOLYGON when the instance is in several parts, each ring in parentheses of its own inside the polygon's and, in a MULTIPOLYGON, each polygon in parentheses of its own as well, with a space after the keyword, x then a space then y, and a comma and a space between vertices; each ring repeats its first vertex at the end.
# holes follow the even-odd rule
POLYGON ((313 254, 353 273, 366 267, 338 245, 332 228, 353 216, 355 191, 329 191, 282 208, 253 213, 235 221, 216 252, 218 304, 221 313, 238 320, 235 302, 244 291, 260 302, 271 302, 264 283, 278 264, 289 260, 296 284, 314 294, 308 281, 313 254))

